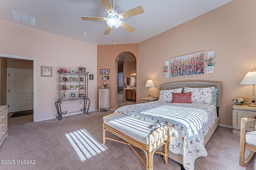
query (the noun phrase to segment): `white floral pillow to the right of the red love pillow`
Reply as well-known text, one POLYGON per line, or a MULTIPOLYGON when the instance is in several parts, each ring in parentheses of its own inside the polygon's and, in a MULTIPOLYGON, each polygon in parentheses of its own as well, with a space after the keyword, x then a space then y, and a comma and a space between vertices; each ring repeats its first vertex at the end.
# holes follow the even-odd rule
POLYGON ((204 103, 212 104, 212 93, 214 87, 207 88, 189 88, 185 87, 183 93, 192 92, 191 101, 192 103, 204 103))

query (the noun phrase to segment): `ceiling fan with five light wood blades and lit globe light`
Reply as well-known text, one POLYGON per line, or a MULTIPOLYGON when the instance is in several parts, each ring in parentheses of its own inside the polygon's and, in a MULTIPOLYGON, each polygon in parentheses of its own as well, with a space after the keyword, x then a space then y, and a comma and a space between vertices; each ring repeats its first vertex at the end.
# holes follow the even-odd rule
MULTIPOLYGON (((115 10, 115 8, 114 9, 112 8, 110 0, 101 0, 101 2, 108 13, 107 17, 81 17, 82 20, 106 21, 108 26, 105 32, 103 33, 103 35, 108 35, 112 28, 115 29, 115 28, 118 28, 119 26, 123 27, 127 31, 130 31, 131 33, 136 30, 134 27, 128 25, 122 20, 125 18, 129 18, 129 17, 144 13, 142 6, 138 6, 136 8, 133 8, 132 10, 128 10, 120 14, 119 11, 115 10)), ((115 0, 114 0, 114 7, 115 7, 115 0)))

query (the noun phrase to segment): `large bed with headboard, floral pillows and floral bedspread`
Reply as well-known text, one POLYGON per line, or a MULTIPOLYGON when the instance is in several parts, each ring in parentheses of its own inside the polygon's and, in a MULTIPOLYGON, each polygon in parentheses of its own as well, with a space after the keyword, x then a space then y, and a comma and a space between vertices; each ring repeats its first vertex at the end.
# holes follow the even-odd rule
POLYGON ((204 146, 220 122, 220 104, 221 84, 218 82, 172 82, 160 86, 158 101, 122 106, 114 113, 168 125, 168 157, 182 164, 182 168, 193 170, 196 158, 207 156, 204 146), (177 102, 177 95, 181 99, 185 98, 182 95, 190 94, 192 103, 177 102), (176 102, 170 103, 170 100, 176 102))

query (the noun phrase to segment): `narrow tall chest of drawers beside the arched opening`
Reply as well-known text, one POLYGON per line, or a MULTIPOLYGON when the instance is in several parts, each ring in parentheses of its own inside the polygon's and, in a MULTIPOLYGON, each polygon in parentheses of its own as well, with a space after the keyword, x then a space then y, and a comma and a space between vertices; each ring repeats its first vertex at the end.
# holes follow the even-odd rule
POLYGON ((110 88, 99 89, 99 112, 100 109, 110 110, 110 88))

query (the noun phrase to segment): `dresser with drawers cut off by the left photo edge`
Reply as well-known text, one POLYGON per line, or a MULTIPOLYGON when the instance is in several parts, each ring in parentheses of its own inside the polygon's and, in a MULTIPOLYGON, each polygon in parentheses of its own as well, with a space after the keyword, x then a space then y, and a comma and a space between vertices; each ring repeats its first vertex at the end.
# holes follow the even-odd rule
POLYGON ((7 106, 0 106, 0 146, 7 137, 7 106))

